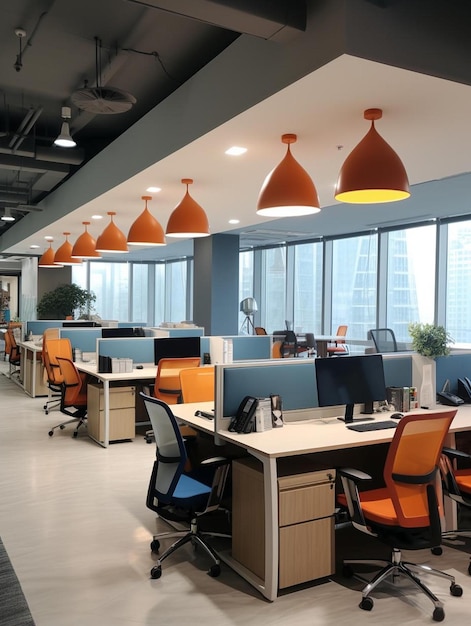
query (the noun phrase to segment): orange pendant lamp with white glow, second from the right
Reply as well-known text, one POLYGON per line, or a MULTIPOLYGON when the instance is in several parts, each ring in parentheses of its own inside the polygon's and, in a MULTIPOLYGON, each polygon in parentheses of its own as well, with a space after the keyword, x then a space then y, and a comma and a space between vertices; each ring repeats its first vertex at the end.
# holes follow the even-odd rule
POLYGON ((265 178, 258 196, 257 213, 264 217, 294 217, 320 211, 319 197, 311 177, 291 154, 290 144, 297 136, 281 136, 286 155, 265 178))

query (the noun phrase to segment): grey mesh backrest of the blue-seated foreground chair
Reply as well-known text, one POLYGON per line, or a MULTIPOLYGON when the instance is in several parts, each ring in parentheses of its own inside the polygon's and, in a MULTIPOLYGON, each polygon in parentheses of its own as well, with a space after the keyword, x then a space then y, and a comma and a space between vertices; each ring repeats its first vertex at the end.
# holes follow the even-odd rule
POLYGON ((171 501, 175 487, 183 474, 187 453, 177 421, 165 402, 141 393, 154 432, 156 461, 147 493, 147 506, 171 501))

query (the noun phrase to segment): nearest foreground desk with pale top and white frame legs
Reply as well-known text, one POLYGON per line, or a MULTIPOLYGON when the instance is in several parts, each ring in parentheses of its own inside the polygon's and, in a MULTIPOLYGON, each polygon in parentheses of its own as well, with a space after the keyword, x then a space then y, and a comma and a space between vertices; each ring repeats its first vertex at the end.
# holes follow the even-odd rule
MULTIPOLYGON (((194 428, 208 428, 208 420, 194 416, 196 408, 207 410, 212 403, 192 405, 176 405, 175 415, 194 428)), ((443 407, 448 410, 449 407, 443 407)), ((437 407, 437 410, 438 407, 437 407)), ((420 411, 426 413, 427 411, 420 411)), ((307 413, 304 414, 307 416, 307 413)), ((387 414, 378 414, 378 420, 387 419, 387 414)), ((229 424, 229 420, 227 425, 229 424)), ((304 454, 315 455, 327 451, 359 448, 362 446, 384 444, 391 441, 394 430, 385 429, 370 432, 355 432, 335 417, 325 419, 285 423, 282 428, 263 433, 237 434, 224 429, 218 430, 218 437, 246 450, 250 455, 261 461, 263 466, 264 500, 265 500, 265 579, 261 580, 250 570, 242 566, 230 554, 221 554, 221 558, 237 573, 245 578, 268 600, 275 600, 278 594, 278 489, 277 459, 295 457, 304 454)), ((447 445, 455 446, 454 434, 471 430, 471 406, 460 407, 452 422, 447 445)), ((314 457, 315 459, 315 457, 314 457)), ((446 508, 447 520, 453 515, 453 507, 446 508)), ((454 525, 455 520, 451 523, 454 525)), ((454 526, 456 527, 456 526, 454 526)))

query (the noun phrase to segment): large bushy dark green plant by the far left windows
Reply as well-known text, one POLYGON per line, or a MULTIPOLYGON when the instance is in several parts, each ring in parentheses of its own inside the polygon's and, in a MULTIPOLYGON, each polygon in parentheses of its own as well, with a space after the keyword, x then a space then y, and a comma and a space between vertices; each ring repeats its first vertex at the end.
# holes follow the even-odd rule
POLYGON ((64 319, 73 317, 74 313, 90 314, 96 296, 87 289, 82 289, 75 283, 59 285, 53 291, 43 295, 38 303, 38 315, 43 319, 64 319))

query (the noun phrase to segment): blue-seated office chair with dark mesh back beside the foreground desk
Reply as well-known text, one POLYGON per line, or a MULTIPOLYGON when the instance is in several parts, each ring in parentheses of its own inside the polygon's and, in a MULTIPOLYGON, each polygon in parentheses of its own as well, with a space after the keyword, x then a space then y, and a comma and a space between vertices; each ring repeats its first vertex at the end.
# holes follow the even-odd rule
POLYGON ((198 528, 200 518, 216 511, 221 504, 229 471, 229 462, 221 457, 203 462, 197 470, 186 473, 187 453, 180 429, 170 407, 156 398, 141 393, 156 440, 156 460, 147 492, 146 504, 159 517, 170 522, 186 523, 188 529, 154 535, 150 544, 152 552, 158 552, 162 539, 179 537, 159 556, 157 565, 150 572, 151 578, 162 576, 162 562, 175 550, 188 542, 199 546, 209 555, 213 564, 208 574, 219 576, 220 559, 208 544, 206 537, 230 537, 225 533, 202 532, 198 528), (202 480, 203 472, 205 480, 202 480), (208 480, 208 473, 211 480, 208 480))

